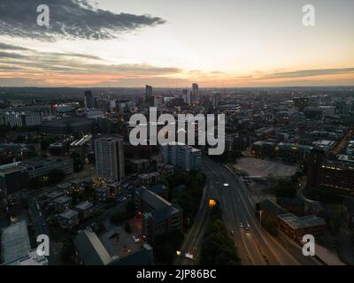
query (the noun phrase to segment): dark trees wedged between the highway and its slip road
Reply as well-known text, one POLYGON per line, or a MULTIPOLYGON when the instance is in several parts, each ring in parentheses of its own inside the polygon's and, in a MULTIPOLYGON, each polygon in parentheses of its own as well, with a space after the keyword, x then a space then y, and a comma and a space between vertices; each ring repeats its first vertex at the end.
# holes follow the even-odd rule
POLYGON ((200 264, 238 265, 241 259, 234 241, 229 237, 218 206, 212 208, 200 252, 200 264))

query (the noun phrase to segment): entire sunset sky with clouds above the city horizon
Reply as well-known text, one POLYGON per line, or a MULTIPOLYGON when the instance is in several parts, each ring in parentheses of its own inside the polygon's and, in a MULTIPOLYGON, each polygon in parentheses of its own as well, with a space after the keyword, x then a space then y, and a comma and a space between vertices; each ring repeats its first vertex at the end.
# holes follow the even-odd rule
POLYGON ((0 86, 354 85, 353 11, 352 0, 0 0, 0 86))

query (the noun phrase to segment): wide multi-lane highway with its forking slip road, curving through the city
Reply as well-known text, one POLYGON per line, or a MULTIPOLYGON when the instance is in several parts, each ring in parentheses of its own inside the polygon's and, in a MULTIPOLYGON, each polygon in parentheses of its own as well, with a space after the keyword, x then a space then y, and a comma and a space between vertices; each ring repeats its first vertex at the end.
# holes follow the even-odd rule
MULTIPOLYGON (((189 250, 197 256, 197 249, 203 238, 204 224, 206 223, 208 208, 207 198, 212 195, 221 205, 223 218, 230 231, 230 237, 235 241, 237 251, 244 265, 299 265, 319 264, 310 257, 305 257, 295 243, 281 238, 283 244, 273 239, 264 230, 256 217, 255 203, 245 184, 224 165, 213 162, 204 157, 203 172, 207 175, 207 186, 204 199, 194 226, 192 226, 182 251, 189 250), (228 184, 228 186, 224 186, 228 184), (250 225, 250 233, 241 227, 250 225), (231 231, 234 233, 231 234, 231 231), (285 242, 285 244, 284 244, 285 242), (284 247, 288 247, 285 249, 284 247), (291 252, 289 252, 289 250, 291 252)), ((177 264, 185 264, 182 259, 177 264)))

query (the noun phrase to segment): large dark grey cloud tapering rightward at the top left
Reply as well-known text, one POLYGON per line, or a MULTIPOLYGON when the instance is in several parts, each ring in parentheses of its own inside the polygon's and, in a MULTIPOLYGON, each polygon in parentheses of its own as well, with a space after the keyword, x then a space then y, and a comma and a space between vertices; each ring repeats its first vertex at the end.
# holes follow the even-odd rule
POLYGON ((55 41, 110 39, 142 27, 155 27, 164 19, 150 15, 113 13, 94 8, 87 0, 1 0, 0 34, 55 41), (50 27, 37 25, 37 6, 50 7, 50 27))

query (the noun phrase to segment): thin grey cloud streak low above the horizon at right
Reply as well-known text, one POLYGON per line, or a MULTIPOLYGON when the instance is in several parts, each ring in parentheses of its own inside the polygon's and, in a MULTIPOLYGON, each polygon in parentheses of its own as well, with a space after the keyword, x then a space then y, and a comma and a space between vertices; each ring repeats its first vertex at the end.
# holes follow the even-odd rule
POLYGON ((315 70, 299 70, 294 72, 271 73, 259 78, 265 79, 291 79, 303 77, 324 76, 330 74, 354 73, 354 68, 333 68, 333 69, 315 69, 315 70))

